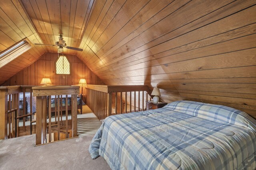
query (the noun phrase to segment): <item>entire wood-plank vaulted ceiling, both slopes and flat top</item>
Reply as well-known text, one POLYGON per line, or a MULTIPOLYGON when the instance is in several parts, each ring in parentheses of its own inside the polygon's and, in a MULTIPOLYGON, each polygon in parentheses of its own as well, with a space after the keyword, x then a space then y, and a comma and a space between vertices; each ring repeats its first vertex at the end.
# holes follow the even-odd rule
MULTIPOLYGON (((8 23, 0 28, 2 36, 8 35, 1 39, 0 50, 32 35, 40 43, 54 44, 62 34, 69 46, 84 49, 64 52, 76 54, 105 84, 157 86, 166 102, 222 104, 256 116, 255 4, 255 0, 10 0, 0 7, 1 25, 8 23)), ((56 52, 55 47, 35 48, 56 52)), ((27 56, 23 55, 20 61, 27 56)), ((30 53, 26 64, 37 55, 30 53)), ((0 68, 0 74, 8 68, 0 68)))

